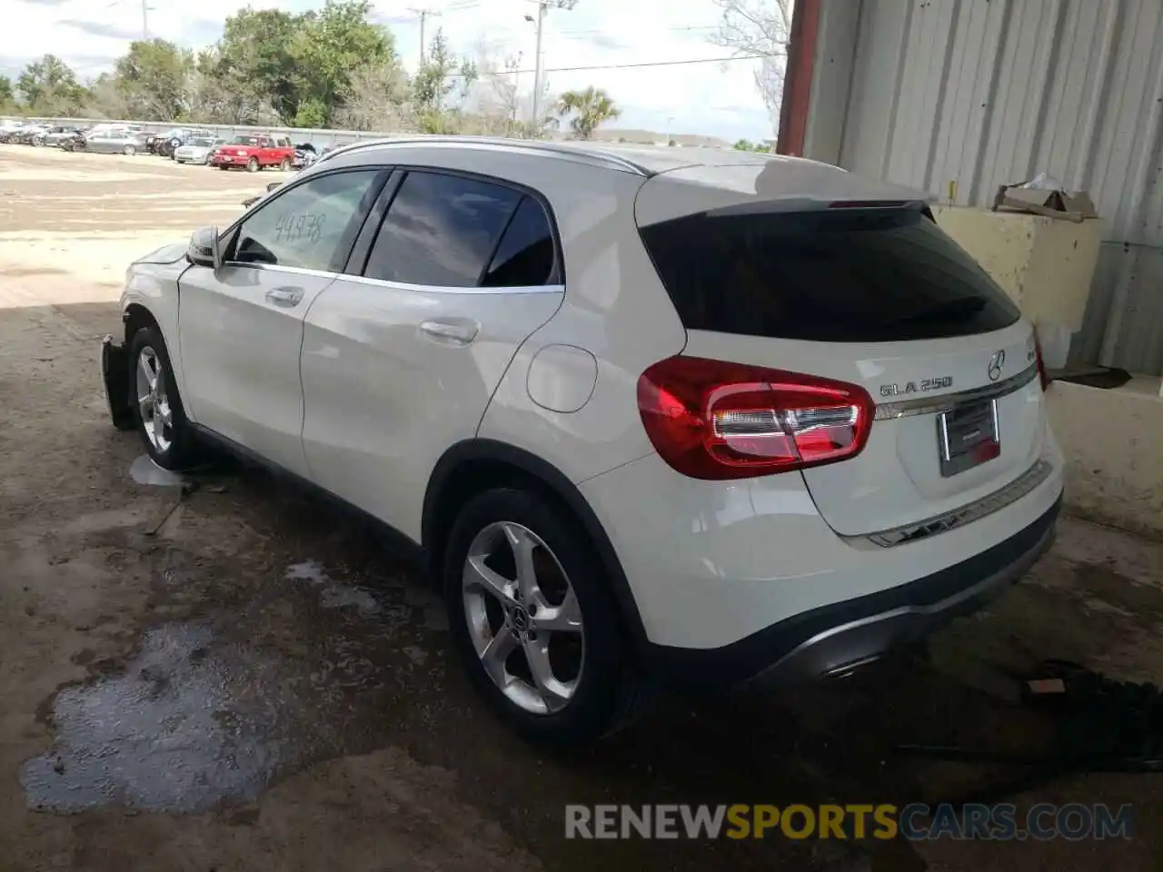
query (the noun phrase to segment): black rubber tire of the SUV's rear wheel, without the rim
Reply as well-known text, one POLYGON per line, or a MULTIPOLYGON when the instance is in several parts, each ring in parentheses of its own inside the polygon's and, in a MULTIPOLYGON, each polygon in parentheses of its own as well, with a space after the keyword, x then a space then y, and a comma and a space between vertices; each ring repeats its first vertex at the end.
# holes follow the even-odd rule
POLYGON ((525 489, 479 494, 454 523, 443 566, 444 601, 457 656, 480 694, 518 734, 556 748, 586 745, 625 727, 641 708, 640 672, 601 563, 579 524, 555 503, 525 489), (541 538, 569 577, 582 609, 582 673, 570 701, 551 714, 534 714, 512 702, 481 666, 469 632, 463 566, 477 534, 500 521, 521 524, 541 538))

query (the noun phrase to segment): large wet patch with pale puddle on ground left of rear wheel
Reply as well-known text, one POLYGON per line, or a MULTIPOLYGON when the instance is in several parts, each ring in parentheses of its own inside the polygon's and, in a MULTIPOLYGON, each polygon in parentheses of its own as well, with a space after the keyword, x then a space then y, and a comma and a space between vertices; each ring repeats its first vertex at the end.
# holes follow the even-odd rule
POLYGON ((53 746, 20 773, 29 807, 197 813, 379 746, 441 644, 415 599, 306 560, 236 613, 147 630, 123 670, 57 694, 53 746))

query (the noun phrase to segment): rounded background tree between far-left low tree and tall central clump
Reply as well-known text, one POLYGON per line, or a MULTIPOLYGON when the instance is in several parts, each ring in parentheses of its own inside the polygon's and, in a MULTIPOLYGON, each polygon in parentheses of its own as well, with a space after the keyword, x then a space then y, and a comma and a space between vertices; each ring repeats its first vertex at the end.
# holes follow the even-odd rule
POLYGON ((137 40, 117 60, 117 87, 133 117, 176 121, 190 109, 192 52, 165 40, 137 40))

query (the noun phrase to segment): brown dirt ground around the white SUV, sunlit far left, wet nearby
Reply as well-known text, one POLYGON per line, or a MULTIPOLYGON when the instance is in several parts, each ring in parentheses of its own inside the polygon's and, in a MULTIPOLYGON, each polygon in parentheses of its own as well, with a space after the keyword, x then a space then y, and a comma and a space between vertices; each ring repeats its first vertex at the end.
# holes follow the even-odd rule
POLYGON ((1134 803, 1130 841, 566 841, 565 803, 904 805, 1011 779, 892 745, 1044 749, 1049 722, 1000 671, 1044 657, 1157 680, 1163 545, 1066 517, 927 657, 663 700, 547 756, 478 705, 440 602, 374 530, 257 472, 186 489, 130 473, 142 446, 109 424, 97 366, 124 267, 272 178, 0 146, 2 872, 1163 867, 1143 774, 1012 798, 1134 803))

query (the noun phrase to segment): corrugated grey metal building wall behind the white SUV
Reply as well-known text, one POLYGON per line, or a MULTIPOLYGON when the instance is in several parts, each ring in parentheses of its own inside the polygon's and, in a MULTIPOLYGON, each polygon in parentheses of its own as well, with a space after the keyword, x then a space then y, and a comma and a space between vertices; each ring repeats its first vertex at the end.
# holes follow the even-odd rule
POLYGON ((969 206, 1090 191, 1071 356, 1163 373, 1163 0, 822 0, 805 153, 969 206))

